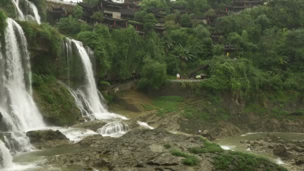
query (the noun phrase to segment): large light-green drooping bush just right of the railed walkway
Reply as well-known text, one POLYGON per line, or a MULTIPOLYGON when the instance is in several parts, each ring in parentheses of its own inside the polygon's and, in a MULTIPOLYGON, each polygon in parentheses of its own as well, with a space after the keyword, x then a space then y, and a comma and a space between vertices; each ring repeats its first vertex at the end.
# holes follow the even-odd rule
POLYGON ((217 56, 209 63, 212 76, 201 82, 201 87, 233 92, 236 100, 249 95, 265 82, 264 75, 244 58, 232 60, 217 56))

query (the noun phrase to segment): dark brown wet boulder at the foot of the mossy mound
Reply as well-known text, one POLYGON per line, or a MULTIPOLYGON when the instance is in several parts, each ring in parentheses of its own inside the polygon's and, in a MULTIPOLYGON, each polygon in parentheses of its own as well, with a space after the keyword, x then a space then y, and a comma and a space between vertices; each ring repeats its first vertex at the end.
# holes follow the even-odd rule
POLYGON ((50 148, 68 144, 69 139, 59 130, 33 130, 26 132, 30 143, 36 148, 50 148))

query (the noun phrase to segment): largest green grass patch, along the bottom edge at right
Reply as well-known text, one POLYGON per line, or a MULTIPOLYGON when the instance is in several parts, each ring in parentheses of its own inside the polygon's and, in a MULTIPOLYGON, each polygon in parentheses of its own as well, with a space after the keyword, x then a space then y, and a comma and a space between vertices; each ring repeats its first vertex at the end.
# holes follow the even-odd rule
POLYGON ((254 171, 256 168, 261 167, 261 170, 287 171, 286 168, 266 158, 235 151, 225 151, 213 157, 213 165, 216 170, 254 171))

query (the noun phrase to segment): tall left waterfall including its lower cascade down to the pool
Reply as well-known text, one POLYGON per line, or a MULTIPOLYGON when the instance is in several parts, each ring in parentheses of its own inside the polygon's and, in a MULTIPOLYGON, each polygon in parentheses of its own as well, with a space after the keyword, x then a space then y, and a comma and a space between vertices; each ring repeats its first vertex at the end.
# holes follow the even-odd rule
MULTIPOLYGON (((31 96, 31 69, 21 26, 7 18, 0 52, 0 134, 11 152, 31 150, 28 130, 45 127, 31 96)), ((7 159, 4 156, 5 160, 7 159)))

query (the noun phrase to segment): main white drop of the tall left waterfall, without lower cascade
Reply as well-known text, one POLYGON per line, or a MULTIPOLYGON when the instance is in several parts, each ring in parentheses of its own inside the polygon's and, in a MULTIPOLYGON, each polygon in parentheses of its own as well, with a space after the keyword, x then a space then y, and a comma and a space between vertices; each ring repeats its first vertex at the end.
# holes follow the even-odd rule
MULTIPOLYGON (((1 62, 6 65, 4 78, 4 92, 1 95, 0 108, 4 113, 4 120, 12 130, 28 131, 44 127, 31 96, 31 72, 27 42, 21 26, 13 19, 7 18, 4 31, 5 57, 1 62)), ((2 114, 3 114, 2 113, 2 114)))

